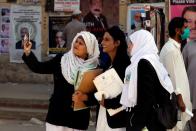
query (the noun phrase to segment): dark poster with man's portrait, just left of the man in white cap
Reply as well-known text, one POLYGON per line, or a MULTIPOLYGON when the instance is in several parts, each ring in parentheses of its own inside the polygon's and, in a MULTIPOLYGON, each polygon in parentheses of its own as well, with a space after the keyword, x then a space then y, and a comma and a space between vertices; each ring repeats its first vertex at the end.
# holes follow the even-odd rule
POLYGON ((49 55, 66 52, 63 29, 70 20, 71 16, 49 17, 49 55))

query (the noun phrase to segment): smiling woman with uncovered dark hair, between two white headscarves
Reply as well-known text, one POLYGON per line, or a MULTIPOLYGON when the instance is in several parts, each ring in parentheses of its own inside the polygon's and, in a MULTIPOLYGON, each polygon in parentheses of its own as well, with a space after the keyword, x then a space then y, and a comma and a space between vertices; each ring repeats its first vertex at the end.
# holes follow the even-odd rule
MULTIPOLYGON (((106 30, 102 41, 103 52, 110 57, 110 68, 114 68, 123 81, 125 69, 130 64, 127 55, 127 43, 125 34, 117 26, 113 26, 106 30)), ((112 88, 112 87, 105 87, 112 88)), ((98 92, 96 92, 98 93, 98 92)), ((95 96, 96 96, 95 93, 95 96)), ((121 107, 119 94, 117 97, 109 99, 106 95, 102 95, 100 101, 100 109, 97 121, 97 131, 125 131, 125 110, 110 116, 107 109, 117 109, 121 107)), ((96 97, 97 98, 97 97, 96 97)), ((99 100, 98 100, 99 101, 99 100)))

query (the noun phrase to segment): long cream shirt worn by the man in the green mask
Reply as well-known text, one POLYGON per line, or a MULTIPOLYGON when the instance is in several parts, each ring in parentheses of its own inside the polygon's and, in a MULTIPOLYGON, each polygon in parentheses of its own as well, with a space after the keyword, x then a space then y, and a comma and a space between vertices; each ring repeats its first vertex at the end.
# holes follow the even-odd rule
MULTIPOLYGON (((180 43, 169 38, 160 52, 160 61, 170 75, 176 94, 181 94, 186 107, 192 110, 189 82, 180 47, 180 43)), ((182 113, 182 128, 189 119, 190 116, 182 113)))

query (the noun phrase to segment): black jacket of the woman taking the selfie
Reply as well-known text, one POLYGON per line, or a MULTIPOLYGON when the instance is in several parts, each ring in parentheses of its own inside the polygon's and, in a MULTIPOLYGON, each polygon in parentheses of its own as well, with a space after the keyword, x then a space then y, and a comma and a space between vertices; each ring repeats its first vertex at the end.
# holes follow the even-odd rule
POLYGON ((73 111, 72 94, 74 93, 74 86, 69 84, 62 75, 61 57, 62 54, 58 54, 49 61, 39 62, 31 52, 29 56, 24 54, 22 58, 33 72, 53 74, 54 91, 50 98, 46 122, 86 130, 89 125, 90 109, 73 111))

